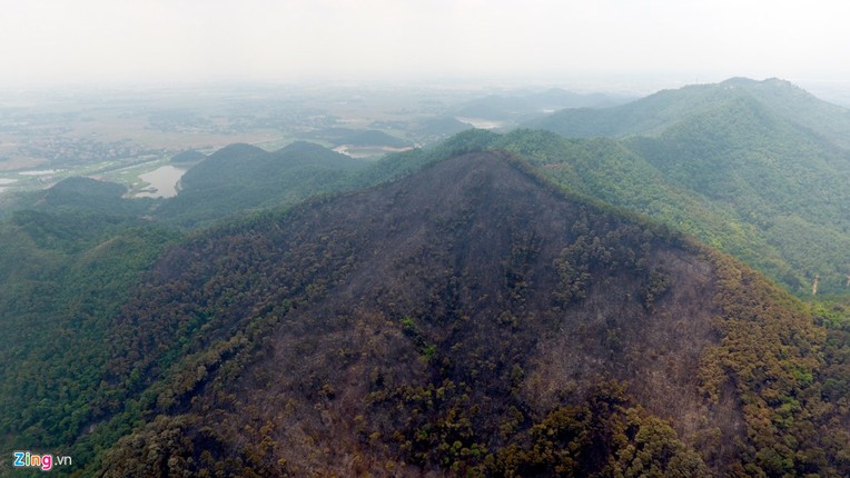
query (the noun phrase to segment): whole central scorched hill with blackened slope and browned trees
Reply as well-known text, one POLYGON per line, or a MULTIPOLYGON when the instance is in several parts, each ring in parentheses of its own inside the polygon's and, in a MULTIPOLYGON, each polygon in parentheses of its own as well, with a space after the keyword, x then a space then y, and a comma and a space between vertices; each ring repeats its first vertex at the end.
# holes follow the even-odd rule
POLYGON ((174 248, 109 333, 107 476, 850 466, 799 302, 492 153, 174 248))

